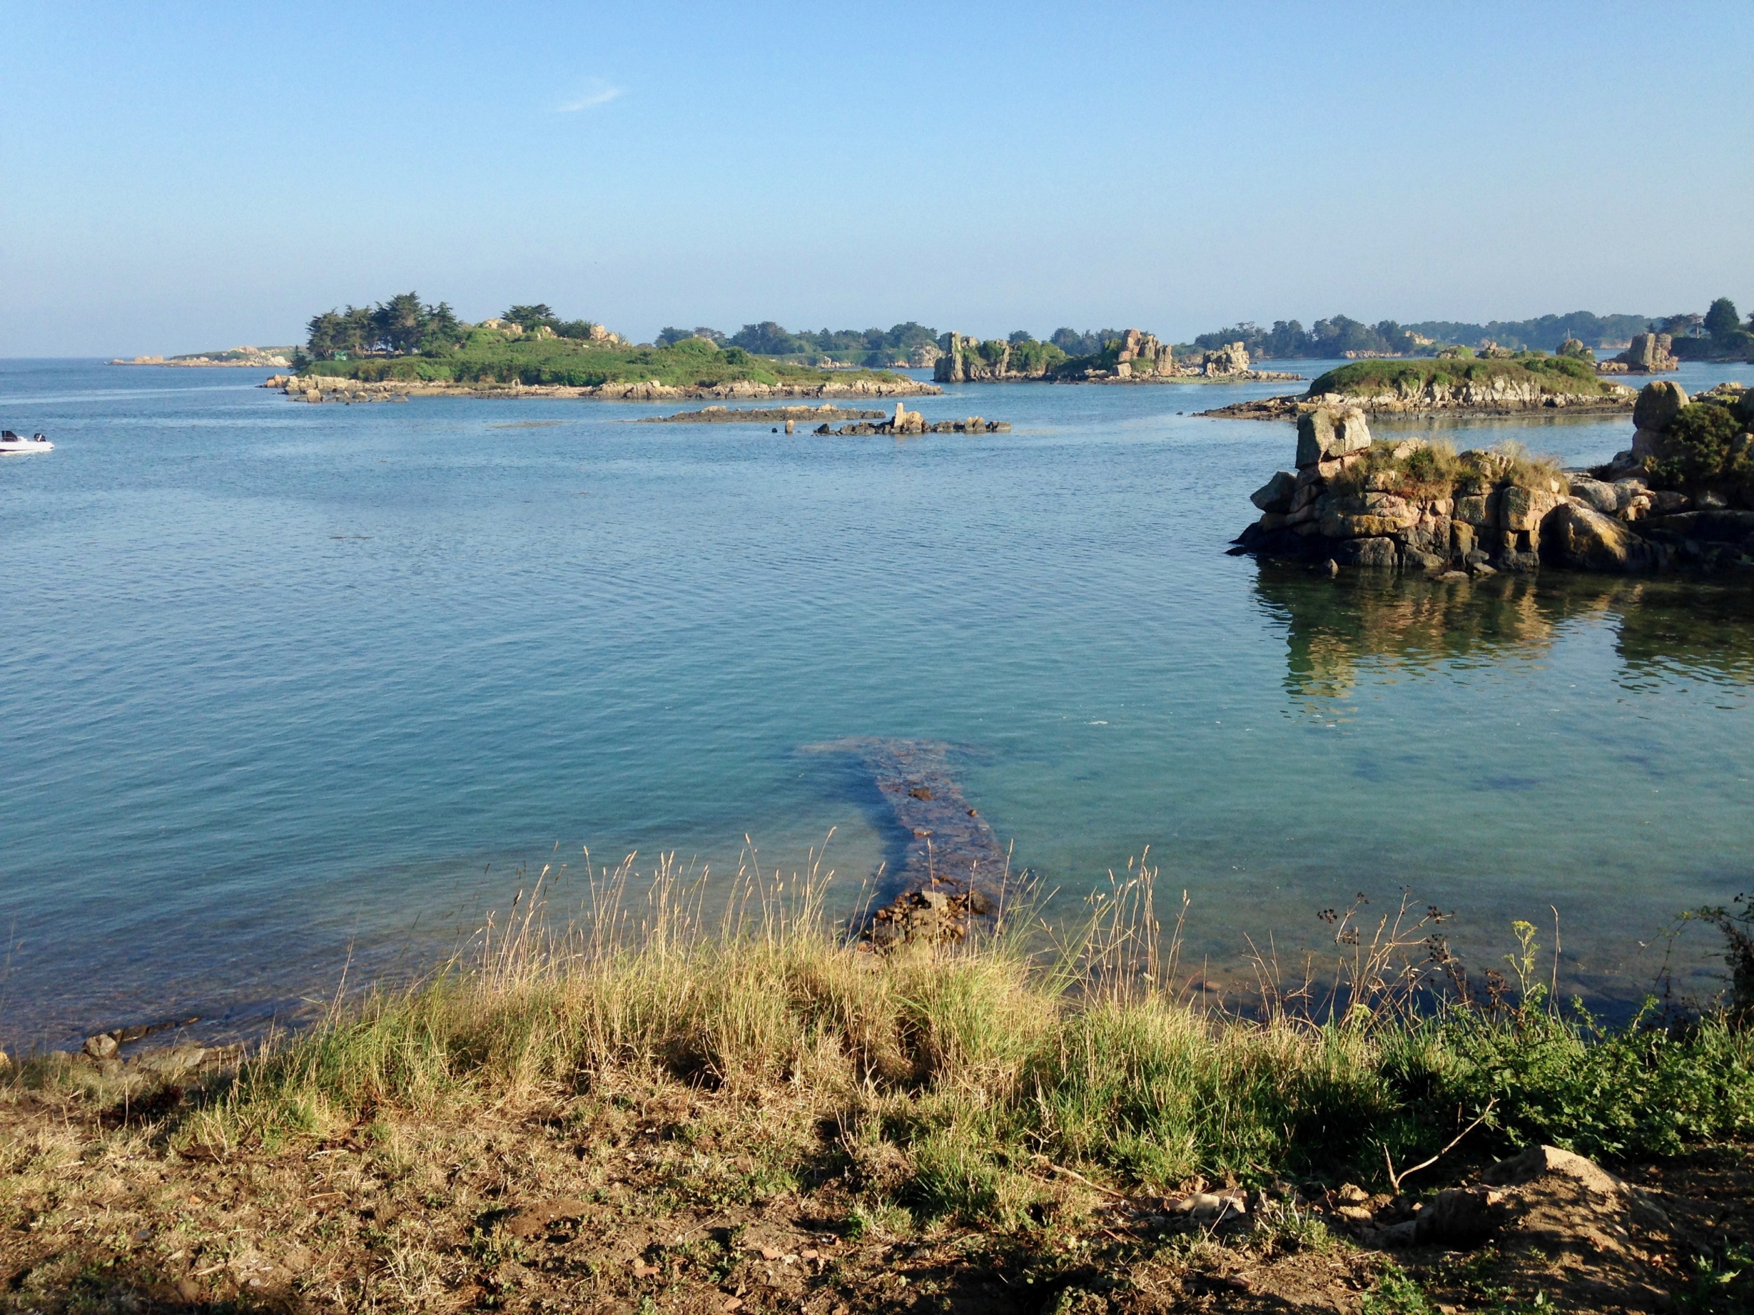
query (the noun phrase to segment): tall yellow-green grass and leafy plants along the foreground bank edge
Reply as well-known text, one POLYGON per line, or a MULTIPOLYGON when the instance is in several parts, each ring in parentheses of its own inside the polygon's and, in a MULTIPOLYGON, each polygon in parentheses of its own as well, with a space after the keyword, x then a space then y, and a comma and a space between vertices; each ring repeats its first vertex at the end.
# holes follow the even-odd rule
MULTIPOLYGON (((1382 1178, 1484 1117, 1482 1145, 1661 1155, 1754 1133, 1754 1036, 1729 1013, 1610 1031, 1547 998, 1529 924, 1508 973, 1470 977, 1431 910, 1375 928, 1328 913, 1340 963, 1323 1005, 1270 994, 1251 1017, 1179 999, 1142 873, 1072 947, 847 949, 809 882, 754 887, 717 928, 674 871, 651 901, 595 884, 595 922, 535 913, 481 963, 377 994, 268 1050, 175 1138, 274 1147, 388 1110, 456 1112, 661 1075, 740 1092, 796 1136, 830 1115, 845 1154, 888 1166, 875 1206, 1023 1220, 1038 1166, 1168 1191, 1196 1175, 1265 1185, 1382 1178), (637 915, 633 908, 658 910, 637 915)), ((1024 928, 1024 931, 1031 931, 1024 928)), ((777 1166, 803 1175, 807 1166, 777 1166)))

